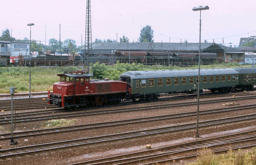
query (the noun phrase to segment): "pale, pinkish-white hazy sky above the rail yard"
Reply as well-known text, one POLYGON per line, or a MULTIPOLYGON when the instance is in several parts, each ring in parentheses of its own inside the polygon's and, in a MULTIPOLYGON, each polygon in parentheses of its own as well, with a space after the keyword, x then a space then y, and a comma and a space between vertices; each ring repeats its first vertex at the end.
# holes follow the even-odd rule
MULTIPOLYGON (((55 38, 73 39, 81 45, 85 34, 86 0, 4 0, 0 2, 0 31, 12 30, 12 37, 46 44, 55 38), (59 25, 61 30, 59 32, 59 25)), ((123 34, 132 42, 140 30, 150 25, 154 42, 199 42, 200 11, 193 7, 208 5, 202 11, 201 41, 239 45, 241 37, 256 35, 255 0, 91 0, 92 42, 115 39, 123 34), (233 37, 230 37, 233 36, 233 37)))

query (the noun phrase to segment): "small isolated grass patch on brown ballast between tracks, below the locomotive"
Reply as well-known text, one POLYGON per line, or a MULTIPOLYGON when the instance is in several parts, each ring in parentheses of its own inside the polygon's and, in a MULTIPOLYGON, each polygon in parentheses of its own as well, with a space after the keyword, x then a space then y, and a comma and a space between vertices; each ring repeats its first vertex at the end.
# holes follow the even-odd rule
POLYGON ((72 125, 76 122, 76 119, 67 120, 67 119, 58 119, 58 120, 49 120, 44 122, 43 128, 52 128, 52 127, 62 127, 72 125))

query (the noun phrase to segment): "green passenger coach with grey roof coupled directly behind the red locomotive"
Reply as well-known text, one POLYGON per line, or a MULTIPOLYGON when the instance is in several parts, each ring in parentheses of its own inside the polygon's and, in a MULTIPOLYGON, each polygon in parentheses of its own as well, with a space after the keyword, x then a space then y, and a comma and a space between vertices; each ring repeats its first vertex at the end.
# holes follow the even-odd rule
MULTIPOLYGON (((209 89, 212 92, 235 90, 241 76, 239 71, 230 68, 201 69, 200 89, 209 89)), ((198 70, 128 71, 123 73, 119 80, 131 84, 132 100, 152 100, 162 93, 197 91, 198 70)))

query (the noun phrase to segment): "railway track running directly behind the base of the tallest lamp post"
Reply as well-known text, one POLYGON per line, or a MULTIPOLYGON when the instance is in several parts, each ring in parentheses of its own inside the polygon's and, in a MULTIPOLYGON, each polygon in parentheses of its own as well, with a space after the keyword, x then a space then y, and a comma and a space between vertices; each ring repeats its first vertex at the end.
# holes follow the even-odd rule
MULTIPOLYGON (((253 119, 256 119, 256 114, 204 121, 199 123, 199 127, 209 127, 214 125, 235 123, 235 122, 241 122, 245 120, 248 121, 253 119)), ((131 138, 140 138, 140 137, 145 137, 149 135, 176 132, 181 130, 191 130, 195 128, 196 128, 196 123, 190 123, 190 124, 181 124, 181 125, 167 126, 167 127, 140 130, 140 131, 103 135, 103 136, 97 136, 97 137, 89 137, 89 138, 82 138, 82 139, 73 139, 73 140, 67 140, 67 141, 46 143, 46 144, 38 144, 33 146, 8 148, 8 149, 0 150, 0 159, 14 157, 14 156, 42 153, 46 151, 53 151, 53 150, 70 148, 70 147, 86 146, 89 144, 98 144, 102 142, 118 141, 118 140, 131 139, 131 138)))

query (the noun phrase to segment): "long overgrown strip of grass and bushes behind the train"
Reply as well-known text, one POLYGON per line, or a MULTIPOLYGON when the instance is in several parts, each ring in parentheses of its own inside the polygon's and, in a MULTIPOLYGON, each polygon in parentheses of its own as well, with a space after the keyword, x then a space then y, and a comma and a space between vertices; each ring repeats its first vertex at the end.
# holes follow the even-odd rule
MULTIPOLYGON (((235 67, 251 67, 251 65, 242 65, 237 63, 200 65, 201 69, 207 68, 235 68, 235 67)), ((118 80, 119 76, 126 71, 149 71, 149 70, 178 70, 178 69, 197 69, 198 65, 189 67, 179 66, 156 66, 143 64, 125 64, 118 61, 114 65, 90 64, 90 73, 93 74, 92 79, 118 80)), ((31 92, 47 91, 48 86, 59 82, 60 77, 56 74, 63 71, 78 71, 81 67, 56 67, 56 68, 39 68, 31 67, 31 92)), ((10 87, 14 86, 16 92, 29 92, 29 67, 0 67, 0 93, 9 93, 10 87)))

